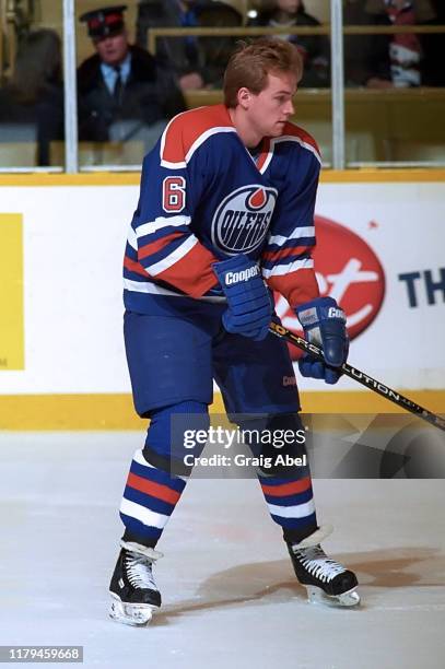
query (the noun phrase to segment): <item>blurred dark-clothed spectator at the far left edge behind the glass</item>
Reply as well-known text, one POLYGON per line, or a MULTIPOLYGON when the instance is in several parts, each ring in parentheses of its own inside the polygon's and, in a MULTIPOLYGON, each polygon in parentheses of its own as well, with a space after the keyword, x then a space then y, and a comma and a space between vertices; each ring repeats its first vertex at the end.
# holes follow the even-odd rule
POLYGON ((21 40, 12 77, 0 90, 0 136, 37 142, 39 166, 49 165, 50 142, 63 139, 61 45, 55 31, 42 28, 21 40))

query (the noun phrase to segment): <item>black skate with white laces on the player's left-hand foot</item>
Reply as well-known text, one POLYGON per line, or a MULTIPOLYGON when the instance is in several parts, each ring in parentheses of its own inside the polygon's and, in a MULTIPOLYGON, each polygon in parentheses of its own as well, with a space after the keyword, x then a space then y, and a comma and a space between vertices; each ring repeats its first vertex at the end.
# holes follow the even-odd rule
POLYGON ((162 553, 147 545, 121 541, 121 551, 109 584, 109 617, 127 625, 147 625, 161 606, 152 566, 162 553))

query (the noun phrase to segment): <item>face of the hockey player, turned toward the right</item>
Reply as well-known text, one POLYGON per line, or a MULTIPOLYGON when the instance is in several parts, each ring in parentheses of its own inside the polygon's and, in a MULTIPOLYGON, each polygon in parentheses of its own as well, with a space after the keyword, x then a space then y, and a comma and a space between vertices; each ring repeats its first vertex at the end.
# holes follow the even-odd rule
POLYGON ((296 93, 297 81, 292 72, 268 74, 267 86, 258 94, 250 94, 247 118, 260 137, 280 137, 284 124, 295 113, 292 97, 296 93))

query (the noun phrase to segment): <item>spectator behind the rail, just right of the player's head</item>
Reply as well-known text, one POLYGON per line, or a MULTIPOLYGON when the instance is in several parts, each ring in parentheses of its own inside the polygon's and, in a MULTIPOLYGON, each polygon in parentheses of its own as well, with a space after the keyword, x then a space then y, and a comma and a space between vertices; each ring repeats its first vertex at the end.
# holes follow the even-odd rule
MULTIPOLYGON (((295 27, 298 25, 317 26, 320 22, 308 14, 303 0, 277 0, 272 8, 258 12, 249 26, 295 27)), ((296 45, 304 60, 302 86, 329 86, 329 42, 324 35, 277 35, 296 45)))

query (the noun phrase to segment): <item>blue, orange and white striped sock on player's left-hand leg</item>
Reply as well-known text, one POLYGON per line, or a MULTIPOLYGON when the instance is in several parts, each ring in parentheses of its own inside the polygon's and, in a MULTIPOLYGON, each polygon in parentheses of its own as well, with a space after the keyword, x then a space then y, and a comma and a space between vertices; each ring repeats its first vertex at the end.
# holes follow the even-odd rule
POLYGON ((185 486, 185 478, 153 467, 138 449, 120 504, 125 539, 154 548, 185 486))

